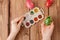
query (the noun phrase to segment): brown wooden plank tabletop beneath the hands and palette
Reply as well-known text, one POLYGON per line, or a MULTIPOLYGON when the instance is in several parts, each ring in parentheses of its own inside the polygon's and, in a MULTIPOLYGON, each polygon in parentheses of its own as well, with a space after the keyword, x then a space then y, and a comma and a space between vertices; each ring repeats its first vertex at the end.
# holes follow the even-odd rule
MULTIPOLYGON (((43 8, 45 17, 48 16, 46 0, 32 0, 32 2, 35 6, 43 8)), ((29 11, 25 3, 26 0, 0 0, 0 40, 6 40, 8 37, 10 21, 29 11)), ((52 40, 60 40, 60 0, 54 0, 53 5, 49 8, 49 15, 52 16, 55 24, 52 40)), ((41 40, 41 22, 29 29, 21 28, 15 40, 41 40)))

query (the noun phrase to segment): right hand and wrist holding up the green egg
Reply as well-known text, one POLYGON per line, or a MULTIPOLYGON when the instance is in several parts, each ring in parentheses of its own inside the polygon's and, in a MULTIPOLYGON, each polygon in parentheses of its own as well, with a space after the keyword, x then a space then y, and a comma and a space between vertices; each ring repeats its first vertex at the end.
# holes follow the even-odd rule
POLYGON ((49 26, 46 26, 43 22, 41 24, 42 40, 51 40, 53 29, 54 29, 53 22, 49 26))

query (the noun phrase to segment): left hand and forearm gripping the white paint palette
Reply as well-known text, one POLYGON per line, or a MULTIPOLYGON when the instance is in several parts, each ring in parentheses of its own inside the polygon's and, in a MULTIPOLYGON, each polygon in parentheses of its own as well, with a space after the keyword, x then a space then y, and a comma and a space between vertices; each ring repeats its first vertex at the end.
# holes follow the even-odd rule
POLYGON ((21 24, 24 20, 24 16, 16 18, 11 21, 10 35, 7 40, 14 40, 17 33, 20 31, 21 24))

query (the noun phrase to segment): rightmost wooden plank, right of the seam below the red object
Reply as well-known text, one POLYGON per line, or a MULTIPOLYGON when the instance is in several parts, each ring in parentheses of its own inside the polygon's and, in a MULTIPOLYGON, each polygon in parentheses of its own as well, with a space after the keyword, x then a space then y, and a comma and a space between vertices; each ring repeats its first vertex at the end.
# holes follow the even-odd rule
POLYGON ((54 32, 52 34, 52 40, 60 40, 60 0, 54 0, 54 4, 49 9, 49 15, 54 20, 54 32))

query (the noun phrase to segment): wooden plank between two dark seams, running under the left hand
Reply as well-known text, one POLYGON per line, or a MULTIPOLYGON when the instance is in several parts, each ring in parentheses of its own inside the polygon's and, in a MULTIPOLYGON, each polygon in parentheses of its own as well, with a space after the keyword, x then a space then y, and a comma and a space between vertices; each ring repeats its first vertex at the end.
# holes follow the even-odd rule
MULTIPOLYGON (((25 1, 10 0, 10 20, 20 17, 28 11, 25 1)), ((22 27, 15 40, 29 40, 29 29, 22 27)))

